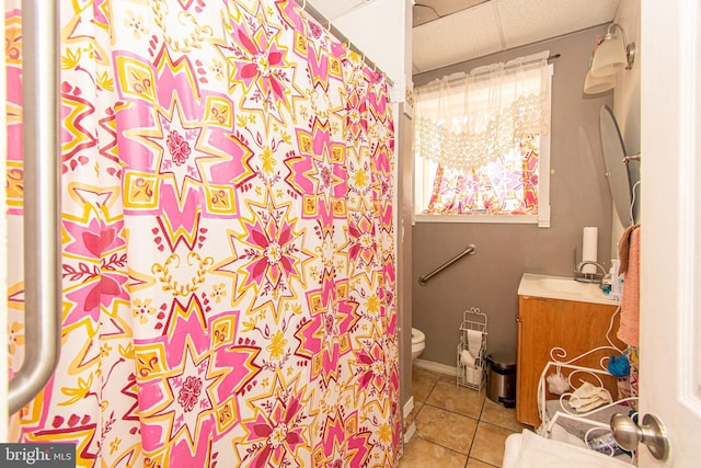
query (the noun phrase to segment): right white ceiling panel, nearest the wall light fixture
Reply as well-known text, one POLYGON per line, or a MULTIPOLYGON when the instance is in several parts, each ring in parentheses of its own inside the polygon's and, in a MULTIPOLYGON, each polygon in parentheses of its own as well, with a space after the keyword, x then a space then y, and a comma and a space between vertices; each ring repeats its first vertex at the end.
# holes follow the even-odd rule
POLYGON ((506 48, 611 21, 619 0, 492 0, 506 48))

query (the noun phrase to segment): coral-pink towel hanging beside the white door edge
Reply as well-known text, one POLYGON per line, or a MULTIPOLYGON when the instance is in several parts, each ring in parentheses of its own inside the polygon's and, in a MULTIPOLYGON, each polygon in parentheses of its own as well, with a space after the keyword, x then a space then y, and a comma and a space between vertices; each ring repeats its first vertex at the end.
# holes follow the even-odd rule
MULTIPOLYGON (((629 230, 623 233, 627 238, 629 230)), ((621 322, 617 336, 631 346, 639 346, 640 340, 640 226, 630 228, 630 238, 619 242, 619 248, 628 243, 628 264, 623 276, 623 299, 621 300, 621 322)))

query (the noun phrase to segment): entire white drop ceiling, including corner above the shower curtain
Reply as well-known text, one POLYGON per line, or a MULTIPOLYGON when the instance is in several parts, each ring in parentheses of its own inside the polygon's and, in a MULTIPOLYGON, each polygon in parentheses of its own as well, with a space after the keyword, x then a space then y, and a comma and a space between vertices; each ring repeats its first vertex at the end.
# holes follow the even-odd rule
MULTIPOLYGON (((377 0, 308 1, 334 21, 377 0)), ((413 28, 414 73, 613 21, 621 0, 489 0, 471 7, 475 1, 416 0, 445 16, 413 28)))

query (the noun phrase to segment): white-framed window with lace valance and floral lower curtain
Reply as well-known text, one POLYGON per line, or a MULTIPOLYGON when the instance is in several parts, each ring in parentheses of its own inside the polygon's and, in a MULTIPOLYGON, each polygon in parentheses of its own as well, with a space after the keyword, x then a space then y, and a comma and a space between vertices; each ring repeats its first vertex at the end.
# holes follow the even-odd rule
POLYGON ((548 53, 416 90, 417 221, 550 224, 548 53))

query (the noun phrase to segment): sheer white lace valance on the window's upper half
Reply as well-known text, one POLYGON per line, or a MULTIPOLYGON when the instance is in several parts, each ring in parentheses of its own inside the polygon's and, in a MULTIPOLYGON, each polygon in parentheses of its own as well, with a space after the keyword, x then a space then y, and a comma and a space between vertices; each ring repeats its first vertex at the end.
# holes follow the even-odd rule
POLYGON ((549 52, 455 73, 416 90, 415 149, 451 169, 481 168, 515 139, 550 128, 549 52))

